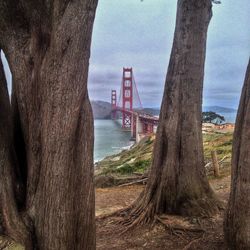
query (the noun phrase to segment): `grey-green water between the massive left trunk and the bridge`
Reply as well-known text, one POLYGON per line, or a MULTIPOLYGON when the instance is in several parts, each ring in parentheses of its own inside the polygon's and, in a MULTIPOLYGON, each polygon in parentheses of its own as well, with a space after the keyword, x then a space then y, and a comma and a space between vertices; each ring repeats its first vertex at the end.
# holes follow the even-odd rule
POLYGON ((119 153, 133 145, 130 131, 123 131, 121 125, 113 120, 95 120, 94 161, 119 153))

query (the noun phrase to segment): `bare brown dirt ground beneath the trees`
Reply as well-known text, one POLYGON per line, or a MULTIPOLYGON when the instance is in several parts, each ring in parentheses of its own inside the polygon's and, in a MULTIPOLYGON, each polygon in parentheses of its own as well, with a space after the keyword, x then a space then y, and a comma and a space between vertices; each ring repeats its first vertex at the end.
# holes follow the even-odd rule
MULTIPOLYGON (((230 177, 213 179, 211 186, 218 197, 226 204, 230 177)), ((125 234, 117 217, 104 218, 118 209, 131 204, 142 191, 142 185, 96 189, 96 221, 98 250, 223 250, 223 215, 224 211, 212 218, 184 218, 164 216, 168 225, 156 223, 129 231, 125 234)))

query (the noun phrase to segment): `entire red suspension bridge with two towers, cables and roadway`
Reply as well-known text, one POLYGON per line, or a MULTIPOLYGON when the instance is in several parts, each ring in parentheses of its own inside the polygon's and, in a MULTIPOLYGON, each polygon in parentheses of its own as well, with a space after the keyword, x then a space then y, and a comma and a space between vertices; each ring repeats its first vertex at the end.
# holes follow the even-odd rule
POLYGON ((122 128, 131 131, 132 139, 139 142, 146 135, 153 134, 159 123, 159 117, 143 110, 137 90, 133 68, 123 68, 120 95, 111 90, 111 118, 118 119, 122 114, 122 128))

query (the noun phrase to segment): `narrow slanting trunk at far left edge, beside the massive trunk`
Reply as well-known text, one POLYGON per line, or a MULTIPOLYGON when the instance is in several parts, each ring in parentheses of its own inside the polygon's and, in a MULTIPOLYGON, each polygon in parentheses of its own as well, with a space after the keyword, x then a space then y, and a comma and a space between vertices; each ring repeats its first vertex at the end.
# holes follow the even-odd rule
MULTIPOLYGON (((1 50, 0 50, 1 52, 1 50)), ((7 82, 0 58, 0 207, 4 217, 5 233, 27 249, 31 248, 31 235, 22 217, 19 215, 16 203, 15 188, 17 187, 15 152, 13 150, 13 135, 11 124, 11 108, 7 90, 7 82), (14 183, 16 185, 14 185, 14 183)))

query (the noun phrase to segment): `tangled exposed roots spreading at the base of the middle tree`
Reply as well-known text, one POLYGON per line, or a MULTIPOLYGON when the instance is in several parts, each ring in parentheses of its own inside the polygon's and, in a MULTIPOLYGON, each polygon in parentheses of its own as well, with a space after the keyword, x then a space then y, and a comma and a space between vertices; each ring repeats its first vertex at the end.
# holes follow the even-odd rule
MULTIPOLYGON (((205 231, 202 228, 184 228, 181 226, 170 226, 166 224, 162 219, 162 214, 169 214, 166 211, 159 211, 156 209, 154 196, 151 196, 152 199, 149 199, 149 196, 141 194, 137 201, 135 201, 130 207, 125 209, 118 210, 109 215, 103 216, 103 218, 108 217, 122 217, 115 224, 123 226, 121 234, 126 233, 129 230, 133 230, 135 227, 143 225, 154 225, 157 221, 164 224, 166 228, 171 231, 190 231, 196 233, 204 233, 205 231), (147 202, 149 201, 149 202, 147 202), (125 228, 125 229, 124 229, 125 228)), ((211 217, 216 214, 220 209, 223 209, 223 204, 218 201, 216 198, 203 198, 200 200, 188 200, 183 204, 182 209, 173 211, 170 214, 179 214, 183 216, 197 216, 197 217, 211 217)))

